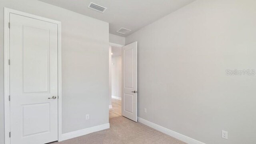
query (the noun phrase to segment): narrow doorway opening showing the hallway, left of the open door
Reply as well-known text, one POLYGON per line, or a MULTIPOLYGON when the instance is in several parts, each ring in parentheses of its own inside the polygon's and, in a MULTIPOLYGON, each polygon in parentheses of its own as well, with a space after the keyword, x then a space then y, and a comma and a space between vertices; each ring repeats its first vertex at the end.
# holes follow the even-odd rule
POLYGON ((109 118, 122 116, 122 46, 110 46, 109 118))

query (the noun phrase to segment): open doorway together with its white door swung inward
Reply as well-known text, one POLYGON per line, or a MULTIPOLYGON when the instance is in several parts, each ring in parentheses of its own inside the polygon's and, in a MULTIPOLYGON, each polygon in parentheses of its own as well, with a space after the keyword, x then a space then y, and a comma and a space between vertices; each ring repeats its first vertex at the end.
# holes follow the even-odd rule
POLYGON ((137 122, 137 42, 109 47, 109 117, 137 122))

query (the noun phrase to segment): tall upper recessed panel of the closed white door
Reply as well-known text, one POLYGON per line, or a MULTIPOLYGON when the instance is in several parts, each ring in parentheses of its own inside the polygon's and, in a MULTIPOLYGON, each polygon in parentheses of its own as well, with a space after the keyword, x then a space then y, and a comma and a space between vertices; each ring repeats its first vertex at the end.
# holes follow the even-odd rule
POLYGON ((49 30, 23 26, 24 92, 49 92, 49 30))

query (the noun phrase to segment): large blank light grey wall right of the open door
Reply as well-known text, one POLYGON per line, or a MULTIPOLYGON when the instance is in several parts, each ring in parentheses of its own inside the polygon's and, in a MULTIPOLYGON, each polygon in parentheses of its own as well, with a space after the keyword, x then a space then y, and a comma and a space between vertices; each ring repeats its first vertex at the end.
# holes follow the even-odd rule
POLYGON ((256 0, 197 0, 134 41, 139 117, 206 144, 255 144, 256 76, 226 69, 256 68, 256 0))

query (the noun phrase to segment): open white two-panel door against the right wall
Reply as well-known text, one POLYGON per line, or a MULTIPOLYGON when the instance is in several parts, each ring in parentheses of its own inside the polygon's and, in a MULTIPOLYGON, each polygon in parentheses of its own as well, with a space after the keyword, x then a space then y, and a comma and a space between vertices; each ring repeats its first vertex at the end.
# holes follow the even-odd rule
POLYGON ((122 48, 122 116, 137 122, 137 42, 122 48))

